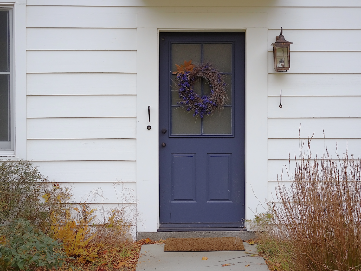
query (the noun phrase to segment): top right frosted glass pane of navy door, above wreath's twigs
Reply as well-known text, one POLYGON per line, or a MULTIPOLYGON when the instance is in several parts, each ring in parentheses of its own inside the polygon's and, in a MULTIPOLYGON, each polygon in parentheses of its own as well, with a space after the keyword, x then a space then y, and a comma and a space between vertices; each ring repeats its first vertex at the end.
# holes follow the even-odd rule
POLYGON ((210 62, 219 72, 232 72, 232 44, 203 44, 203 62, 210 62))

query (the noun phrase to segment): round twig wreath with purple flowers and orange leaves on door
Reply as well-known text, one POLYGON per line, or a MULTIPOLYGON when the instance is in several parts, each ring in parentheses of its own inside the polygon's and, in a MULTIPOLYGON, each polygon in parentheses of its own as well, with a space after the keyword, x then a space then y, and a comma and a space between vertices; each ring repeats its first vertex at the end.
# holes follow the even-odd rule
POLYGON ((213 114, 216 108, 220 111, 229 100, 222 75, 209 62, 194 65, 190 60, 184 61, 184 65, 175 66, 178 71, 173 74, 177 74, 179 98, 183 100, 178 104, 182 104, 187 111, 194 110, 193 116, 199 115, 203 118, 205 115, 213 114), (211 94, 200 97, 194 92, 193 86, 202 78, 208 82, 211 94))

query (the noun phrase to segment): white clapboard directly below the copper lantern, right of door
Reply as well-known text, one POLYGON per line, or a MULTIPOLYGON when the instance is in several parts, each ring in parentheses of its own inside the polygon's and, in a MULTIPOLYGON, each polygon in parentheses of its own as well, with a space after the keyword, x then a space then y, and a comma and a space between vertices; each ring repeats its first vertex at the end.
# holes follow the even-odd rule
MULTIPOLYGON (((291 67, 292 68, 292 67, 291 67)), ((361 95, 361 73, 269 73, 268 95, 342 96, 361 95)))

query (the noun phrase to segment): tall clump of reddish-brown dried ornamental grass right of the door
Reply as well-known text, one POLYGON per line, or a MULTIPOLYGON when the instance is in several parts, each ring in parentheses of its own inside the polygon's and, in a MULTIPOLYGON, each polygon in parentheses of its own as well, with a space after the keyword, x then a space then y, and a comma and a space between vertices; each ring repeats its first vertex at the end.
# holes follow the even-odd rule
POLYGON ((289 270, 361 270, 361 160, 327 150, 313 158, 310 141, 308 154, 295 157, 290 188, 278 183, 273 225, 260 242, 273 244, 289 270))

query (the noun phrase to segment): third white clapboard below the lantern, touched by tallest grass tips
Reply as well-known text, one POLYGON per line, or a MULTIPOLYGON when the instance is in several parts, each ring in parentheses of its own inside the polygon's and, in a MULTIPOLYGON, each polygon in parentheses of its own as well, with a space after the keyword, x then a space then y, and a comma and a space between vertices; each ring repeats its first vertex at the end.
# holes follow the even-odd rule
POLYGON ((269 118, 268 138, 361 138, 360 118, 269 118), (301 128, 300 128, 301 126, 301 128), (323 134, 325 132, 325 135, 323 134))

